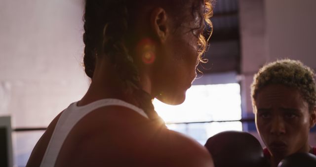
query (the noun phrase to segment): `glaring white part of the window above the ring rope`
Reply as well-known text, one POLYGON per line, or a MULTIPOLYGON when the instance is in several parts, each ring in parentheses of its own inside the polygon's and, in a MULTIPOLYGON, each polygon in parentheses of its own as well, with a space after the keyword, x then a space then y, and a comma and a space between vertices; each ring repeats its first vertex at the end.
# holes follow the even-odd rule
POLYGON ((238 83, 193 85, 180 105, 167 105, 157 99, 153 104, 167 124, 241 119, 238 83))

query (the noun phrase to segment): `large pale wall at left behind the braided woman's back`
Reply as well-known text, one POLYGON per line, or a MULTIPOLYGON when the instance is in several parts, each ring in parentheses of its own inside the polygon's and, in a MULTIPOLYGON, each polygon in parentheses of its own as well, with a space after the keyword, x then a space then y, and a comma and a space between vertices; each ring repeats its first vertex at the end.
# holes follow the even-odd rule
MULTIPOLYGON (((12 127, 46 127, 85 93, 83 0, 1 0, 0 116, 12 127)), ((14 132, 14 165, 25 166, 42 131, 14 132)))

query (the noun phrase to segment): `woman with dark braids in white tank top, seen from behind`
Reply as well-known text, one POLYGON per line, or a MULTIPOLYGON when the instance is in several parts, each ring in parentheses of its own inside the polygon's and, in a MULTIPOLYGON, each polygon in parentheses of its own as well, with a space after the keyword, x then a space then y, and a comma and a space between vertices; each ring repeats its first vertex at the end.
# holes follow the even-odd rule
POLYGON ((211 27, 209 0, 86 0, 86 94, 62 111, 27 167, 213 167, 196 141, 165 127, 152 99, 180 104, 211 27))

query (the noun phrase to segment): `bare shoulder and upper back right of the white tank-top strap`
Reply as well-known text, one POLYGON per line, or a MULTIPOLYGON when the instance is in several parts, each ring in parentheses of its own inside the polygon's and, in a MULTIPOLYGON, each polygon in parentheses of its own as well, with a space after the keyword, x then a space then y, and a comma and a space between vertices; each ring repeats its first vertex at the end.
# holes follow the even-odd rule
POLYGON ((56 166, 213 167, 207 150, 133 110, 103 107, 69 133, 56 166))

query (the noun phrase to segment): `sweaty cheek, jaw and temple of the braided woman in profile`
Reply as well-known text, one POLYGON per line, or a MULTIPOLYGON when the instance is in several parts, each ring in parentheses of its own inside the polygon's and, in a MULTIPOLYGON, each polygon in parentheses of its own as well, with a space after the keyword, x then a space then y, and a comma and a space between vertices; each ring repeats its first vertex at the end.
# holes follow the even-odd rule
MULTIPOLYGON (((157 67, 153 70, 154 87, 156 98, 167 104, 181 104, 186 97, 186 90, 191 87, 193 80, 197 76, 196 67, 198 64, 198 36, 205 27, 203 21, 203 5, 195 13, 184 13, 188 22, 181 25, 169 24, 174 27, 172 34, 165 41, 162 48, 158 49, 158 54, 162 55, 157 59, 157 67), (160 52, 160 50, 163 50, 160 52)), ((188 7, 186 11, 191 11, 188 7)))

